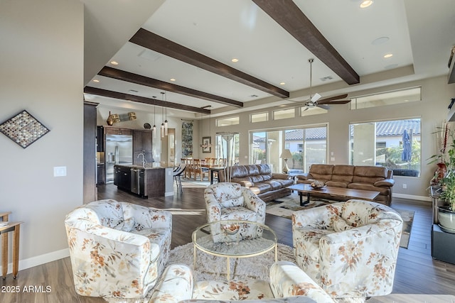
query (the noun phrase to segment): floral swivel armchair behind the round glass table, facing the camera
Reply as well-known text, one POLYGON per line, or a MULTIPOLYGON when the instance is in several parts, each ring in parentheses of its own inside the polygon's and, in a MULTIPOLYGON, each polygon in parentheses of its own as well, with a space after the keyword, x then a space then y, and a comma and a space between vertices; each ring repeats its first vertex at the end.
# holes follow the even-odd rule
MULTIPOLYGON (((208 186, 204 191, 207 221, 243 220, 260 224, 265 222, 265 202, 247 187, 238 183, 220 182, 208 186)), ((233 241, 226 235, 220 224, 211 227, 210 232, 215 243, 233 241)), ((260 236, 255 225, 240 226, 242 238, 260 236)))

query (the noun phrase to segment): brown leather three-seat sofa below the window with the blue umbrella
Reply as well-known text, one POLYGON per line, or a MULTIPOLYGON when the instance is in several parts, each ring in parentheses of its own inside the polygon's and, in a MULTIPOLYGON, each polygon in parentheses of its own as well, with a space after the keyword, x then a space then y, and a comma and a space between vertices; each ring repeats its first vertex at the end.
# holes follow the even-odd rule
MULTIPOLYGON (((297 183, 310 184, 314 180, 324 182, 327 186, 352 189, 365 189, 380 192, 375 202, 390 206, 392 204, 393 170, 379 166, 360 165, 311 165, 309 172, 297 175, 297 183)), ((324 194, 312 194, 326 196, 324 194)), ((334 197, 326 197, 335 199, 334 197)))

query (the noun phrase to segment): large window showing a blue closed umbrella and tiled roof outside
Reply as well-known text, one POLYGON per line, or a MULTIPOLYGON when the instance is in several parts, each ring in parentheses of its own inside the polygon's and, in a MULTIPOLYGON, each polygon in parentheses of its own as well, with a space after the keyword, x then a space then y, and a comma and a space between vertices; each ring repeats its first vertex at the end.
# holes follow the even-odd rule
POLYGON ((419 177, 420 119, 350 124, 350 164, 378 165, 419 177))

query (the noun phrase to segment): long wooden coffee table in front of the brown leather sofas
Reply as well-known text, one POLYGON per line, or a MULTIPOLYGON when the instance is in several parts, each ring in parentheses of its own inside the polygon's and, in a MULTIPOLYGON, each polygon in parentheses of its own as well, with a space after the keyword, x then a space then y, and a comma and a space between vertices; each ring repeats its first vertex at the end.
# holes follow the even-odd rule
POLYGON ((346 198, 346 199, 363 199, 363 200, 368 200, 368 201, 373 201, 375 199, 375 197, 378 197, 378 194, 380 194, 380 192, 376 192, 373 190, 365 190, 365 189, 352 189, 352 188, 331 187, 331 186, 324 186, 322 188, 314 188, 314 187, 311 187, 310 184, 306 184, 306 183, 294 184, 288 188, 299 192, 301 206, 304 206, 305 204, 309 204, 311 193, 329 194, 333 197, 342 197, 342 198, 346 198), (305 202, 303 202, 303 199, 302 199, 304 193, 306 193, 305 202))

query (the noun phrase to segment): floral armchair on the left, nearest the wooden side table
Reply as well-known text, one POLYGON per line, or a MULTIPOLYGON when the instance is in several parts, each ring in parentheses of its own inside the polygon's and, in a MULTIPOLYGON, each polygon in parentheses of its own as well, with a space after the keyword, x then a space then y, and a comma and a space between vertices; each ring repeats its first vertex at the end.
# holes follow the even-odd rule
POLYGON ((172 214, 107 199, 65 218, 77 294, 141 298, 168 261, 172 214))

